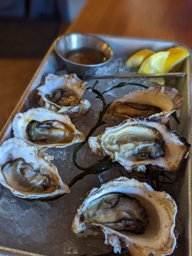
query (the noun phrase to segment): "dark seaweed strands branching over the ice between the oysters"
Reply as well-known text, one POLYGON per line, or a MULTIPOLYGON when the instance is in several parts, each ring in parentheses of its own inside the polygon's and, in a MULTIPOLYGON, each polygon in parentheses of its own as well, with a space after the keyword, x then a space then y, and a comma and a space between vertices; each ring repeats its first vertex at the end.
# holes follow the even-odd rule
MULTIPOLYGON (((87 143, 87 141, 89 140, 89 137, 93 134, 94 131, 96 131, 96 129, 98 127, 100 127, 101 125, 106 124, 103 121, 103 115, 105 115, 105 112, 107 111, 108 106, 110 104, 107 104, 103 94, 105 94, 106 92, 109 92, 110 90, 114 90, 115 88, 121 88, 123 86, 126 86, 128 84, 148 88, 144 84, 139 84, 139 83, 119 83, 116 86, 113 86, 112 88, 110 88, 108 90, 105 90, 104 92, 100 92, 99 90, 97 90, 95 88, 97 84, 98 84, 98 81, 96 81, 92 87, 86 88, 86 90, 92 90, 92 92, 96 94, 96 98, 100 99, 101 102, 103 103, 103 108, 99 113, 98 121, 96 122, 96 124, 91 128, 91 130, 87 134, 87 136, 85 138, 85 141, 83 141, 77 147, 75 147, 75 149, 73 151, 73 163, 82 172, 79 173, 78 175, 76 175, 75 177, 73 177, 73 179, 68 184, 68 186, 70 188, 78 180, 84 179, 84 177, 86 175, 100 174, 100 173, 105 172, 107 170, 110 170, 111 168, 114 168, 114 167, 122 167, 121 164, 118 163, 117 161, 112 162, 109 159, 107 159, 107 161, 105 161, 106 160, 105 158, 103 158, 99 163, 95 163, 95 164, 92 164, 91 166, 87 166, 87 167, 80 166, 80 164, 77 163, 77 154, 82 149, 82 147, 84 147, 85 143, 87 143)), ((175 120, 177 120, 179 122, 179 120, 177 119, 177 115, 174 114, 173 116, 174 116, 175 120)), ((121 172, 122 176, 126 176, 126 177, 129 177, 129 178, 133 177, 133 175, 130 174, 129 172, 126 172, 126 171, 122 172, 121 169, 122 168, 119 168, 119 172, 121 172)), ((131 173, 134 173, 134 172, 135 171, 132 170, 131 173)), ((158 191, 161 190, 161 187, 163 186, 163 184, 172 184, 172 179, 170 177, 168 177, 165 170, 161 170, 161 169, 156 168, 155 166, 151 166, 151 165, 146 166, 146 170, 145 170, 144 173, 143 172, 137 172, 137 179, 142 181, 142 182, 147 182, 148 184, 151 184, 152 188, 155 189, 155 190, 158 190, 158 191)))

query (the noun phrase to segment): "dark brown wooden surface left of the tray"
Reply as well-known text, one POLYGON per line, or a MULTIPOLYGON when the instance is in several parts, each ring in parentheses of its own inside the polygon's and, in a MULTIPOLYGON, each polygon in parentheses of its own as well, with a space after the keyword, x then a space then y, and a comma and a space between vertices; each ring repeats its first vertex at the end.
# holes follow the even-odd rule
MULTIPOLYGON (((59 35, 66 28, 61 24, 59 35)), ((0 58, 0 131, 40 63, 41 58, 0 58)))

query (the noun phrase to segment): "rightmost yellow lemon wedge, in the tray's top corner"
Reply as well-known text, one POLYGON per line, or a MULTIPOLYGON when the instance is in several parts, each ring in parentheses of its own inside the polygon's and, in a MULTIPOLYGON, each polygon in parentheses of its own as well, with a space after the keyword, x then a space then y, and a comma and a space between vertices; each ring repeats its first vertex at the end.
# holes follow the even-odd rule
POLYGON ((173 68, 175 68, 174 71, 178 71, 181 67, 181 65, 178 64, 182 64, 182 61, 189 56, 189 51, 182 46, 177 46, 168 49, 168 52, 170 52, 170 54, 165 62, 165 72, 169 72, 173 68))

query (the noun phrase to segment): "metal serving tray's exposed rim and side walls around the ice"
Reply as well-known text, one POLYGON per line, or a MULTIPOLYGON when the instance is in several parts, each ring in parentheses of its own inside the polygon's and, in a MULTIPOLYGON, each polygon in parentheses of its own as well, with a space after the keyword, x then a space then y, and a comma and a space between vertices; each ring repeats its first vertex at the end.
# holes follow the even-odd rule
MULTIPOLYGON (((168 41, 159 41, 159 40, 147 40, 147 39, 141 39, 141 38, 128 38, 128 37, 118 37, 118 36, 101 36, 97 35, 103 40, 107 41, 108 44, 112 47, 115 56, 121 57, 121 56, 128 56, 128 54, 132 54, 133 52, 136 52, 138 49, 152 49, 153 51, 161 51, 163 49, 167 49, 169 47, 172 47, 174 45, 181 45, 178 42, 168 42, 168 41), (126 55, 125 55, 126 54, 126 55)), ((186 47, 186 45, 184 45, 186 47)), ((190 51, 190 49, 189 49, 190 51)), ((190 51, 191 52, 191 51, 190 51)), ((57 70, 61 70, 63 68, 63 63, 59 58, 56 56, 54 52, 54 44, 50 47, 47 54, 45 55, 45 58, 41 62, 40 67, 36 71, 36 73, 33 76, 33 79, 31 80, 31 83, 29 83, 29 86, 27 86, 26 91, 22 95, 20 101, 18 102, 16 108, 14 109, 13 113, 11 114, 10 118, 4 125, 3 130, 0 134, 0 143, 3 143, 4 140, 8 140, 9 138, 13 137, 13 132, 11 130, 11 122, 18 112, 24 112, 29 108, 36 107, 36 104, 34 102, 37 101, 38 97, 36 96, 36 88, 40 86, 42 77, 45 77, 49 73, 55 73, 57 70)), ((184 106, 181 111, 181 117, 179 125, 179 132, 183 136, 185 136, 189 143, 191 143, 191 60, 187 60, 184 63, 184 67, 181 70, 182 72, 186 72, 187 76, 185 78, 179 78, 177 81, 177 89, 179 90, 182 95, 184 95, 184 106)), ((181 170, 180 170, 181 172, 181 170)), ((181 214, 181 222, 182 222, 182 229, 183 229, 183 236, 180 239, 179 244, 179 250, 177 252, 177 255, 188 255, 192 256, 192 240, 191 240, 191 232, 192 232, 192 219, 191 219, 191 212, 192 212, 192 168, 191 168, 191 156, 189 156, 188 161, 185 164, 185 170, 182 170, 184 172, 184 175, 181 177, 181 189, 179 192, 179 198, 178 198, 178 204, 181 214)), ((3 193, 3 192, 2 192, 3 193)), ((1 195, 0 195, 1 196, 1 195)), ((10 198, 13 197, 13 195, 9 195, 10 198)), ((18 198, 18 200, 21 200, 18 198)), ((1 199, 0 199, 0 205, 1 205, 1 199)), ((77 204, 79 205, 79 204, 77 204)), ((0 206, 1 207, 1 206, 0 206)), ((8 208, 9 209, 9 208, 8 208)), ((77 208, 76 208, 77 209, 77 208)), ((8 211, 7 214, 10 214, 8 211)), ((16 216, 15 216, 16 218, 16 216)), ((1 226, 1 215, 0 215, 0 226, 1 226)), ((1 227, 0 227, 1 228, 1 227)), ((44 230, 45 231, 45 230, 44 230)), ((25 230, 24 230, 25 232, 25 230)), ((39 230, 36 230, 36 232, 39 232, 39 230)), ((1 237, 3 234, 1 234, 1 237)), ((17 234, 15 234, 15 237, 17 234)), ((14 237, 14 236, 13 236, 14 237)), ((34 243, 34 250, 31 249, 31 246, 29 246, 29 249, 27 246, 17 246, 15 243, 11 243, 13 240, 13 237, 10 237, 10 241, 8 243, 2 242, 3 239, 0 238, 0 255, 52 255, 52 252, 47 253, 46 250, 37 250, 36 249, 36 243, 34 243), (17 250, 22 249, 22 250, 17 250), (41 254, 35 254, 35 253, 28 253, 24 251, 33 251, 36 253, 41 254), (45 252, 45 253, 43 253, 45 252)), ((54 244, 53 244, 54 246, 54 244)), ((43 243, 42 243, 43 247, 43 243)), ((73 253, 72 251, 69 251, 71 255, 77 255, 73 253)), ((60 255, 66 255, 66 254, 60 254, 60 255)), ((57 255, 57 254, 54 254, 57 255)), ((176 254, 174 254, 176 255, 176 254)), ((88 256, 88 255, 87 255, 88 256)))

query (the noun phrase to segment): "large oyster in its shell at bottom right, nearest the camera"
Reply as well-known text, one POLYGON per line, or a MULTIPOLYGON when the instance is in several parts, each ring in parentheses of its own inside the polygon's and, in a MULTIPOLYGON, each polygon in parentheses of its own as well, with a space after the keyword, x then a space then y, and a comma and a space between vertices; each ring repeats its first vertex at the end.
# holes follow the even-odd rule
POLYGON ((176 245, 176 214, 177 205, 167 193, 120 177, 91 190, 72 230, 78 237, 102 237, 103 232, 115 253, 126 248, 132 256, 169 255, 176 245))

